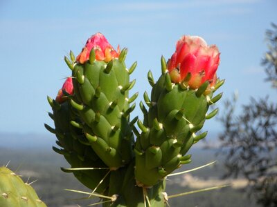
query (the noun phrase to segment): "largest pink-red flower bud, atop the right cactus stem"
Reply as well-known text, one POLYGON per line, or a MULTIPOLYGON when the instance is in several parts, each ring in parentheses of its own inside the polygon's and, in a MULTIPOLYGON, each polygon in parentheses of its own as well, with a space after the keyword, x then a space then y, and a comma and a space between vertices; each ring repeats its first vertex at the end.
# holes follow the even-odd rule
POLYGON ((177 41, 175 53, 168 61, 168 71, 175 83, 184 81, 190 73, 188 86, 197 89, 205 81, 214 85, 219 64, 217 46, 208 46, 202 37, 184 35, 177 41))

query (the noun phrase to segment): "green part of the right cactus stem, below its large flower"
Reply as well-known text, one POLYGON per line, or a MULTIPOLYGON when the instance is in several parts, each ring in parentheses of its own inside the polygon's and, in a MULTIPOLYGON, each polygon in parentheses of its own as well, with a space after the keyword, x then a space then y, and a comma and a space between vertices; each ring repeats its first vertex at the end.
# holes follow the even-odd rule
POLYGON ((148 72, 152 85, 151 99, 146 93, 144 99, 149 110, 141 103, 144 121, 138 121, 141 134, 134 148, 139 152, 136 153, 135 177, 141 186, 154 186, 182 164, 190 163, 186 152, 207 134, 195 133, 202 128, 206 119, 216 115, 217 109, 208 115, 206 113, 208 107, 222 97, 222 94, 213 97, 216 89, 204 95, 208 81, 197 90, 172 83, 164 69, 163 57, 161 66, 163 75, 157 83, 152 84, 152 76, 148 72))

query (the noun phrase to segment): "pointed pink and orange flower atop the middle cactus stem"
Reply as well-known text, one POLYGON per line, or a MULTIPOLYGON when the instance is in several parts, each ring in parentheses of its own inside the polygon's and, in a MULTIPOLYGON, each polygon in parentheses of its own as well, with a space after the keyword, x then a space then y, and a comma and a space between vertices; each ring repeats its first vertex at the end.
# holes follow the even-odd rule
POLYGON ((120 53, 119 46, 117 51, 110 45, 105 36, 100 32, 93 34, 88 40, 82 52, 76 58, 79 63, 84 63, 89 59, 89 53, 94 48, 96 53, 96 60, 108 62, 111 59, 118 57, 120 53))

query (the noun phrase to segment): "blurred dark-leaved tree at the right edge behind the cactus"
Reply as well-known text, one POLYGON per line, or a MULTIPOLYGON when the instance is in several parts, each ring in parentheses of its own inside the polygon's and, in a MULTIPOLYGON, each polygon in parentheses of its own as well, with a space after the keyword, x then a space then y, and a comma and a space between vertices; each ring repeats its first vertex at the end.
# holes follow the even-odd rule
MULTIPOLYGON (((277 89, 277 26, 267 30, 268 51, 262 59, 266 81, 277 89)), ((277 206, 277 103, 269 97, 251 98, 235 115, 237 97, 225 101, 220 117, 223 125, 219 139, 224 157, 224 177, 244 176, 249 180, 249 195, 261 206, 277 206)))

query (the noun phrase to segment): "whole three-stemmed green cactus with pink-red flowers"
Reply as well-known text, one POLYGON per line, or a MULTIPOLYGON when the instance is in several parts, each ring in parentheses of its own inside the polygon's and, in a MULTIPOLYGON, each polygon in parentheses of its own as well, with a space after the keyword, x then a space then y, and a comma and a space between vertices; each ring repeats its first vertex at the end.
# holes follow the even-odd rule
POLYGON ((136 62, 127 68, 126 55, 100 33, 76 59, 70 52, 64 60, 71 77, 55 100, 48 97, 55 128, 45 126, 71 165, 63 170, 98 193, 103 206, 166 206, 166 176, 190 163, 188 150, 207 134, 198 131, 217 113, 208 108, 222 97, 213 96, 224 83, 216 77, 220 52, 201 37, 181 37, 172 57, 161 57, 157 82, 148 72, 143 120, 129 118, 138 93, 129 96, 136 62))

